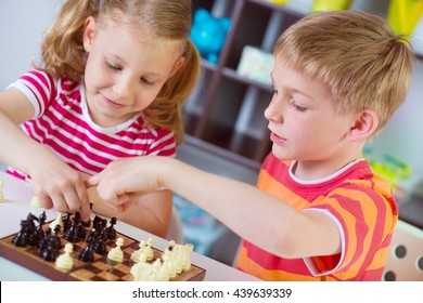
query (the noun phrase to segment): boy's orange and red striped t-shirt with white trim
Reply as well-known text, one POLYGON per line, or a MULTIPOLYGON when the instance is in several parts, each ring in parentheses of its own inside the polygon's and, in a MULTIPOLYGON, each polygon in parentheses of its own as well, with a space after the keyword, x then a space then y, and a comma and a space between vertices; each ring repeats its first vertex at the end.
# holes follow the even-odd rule
POLYGON ((270 154, 258 188, 298 210, 329 215, 339 229, 341 253, 289 260, 243 240, 239 268, 264 280, 381 280, 398 220, 388 182, 364 159, 318 182, 296 179, 292 164, 270 154))

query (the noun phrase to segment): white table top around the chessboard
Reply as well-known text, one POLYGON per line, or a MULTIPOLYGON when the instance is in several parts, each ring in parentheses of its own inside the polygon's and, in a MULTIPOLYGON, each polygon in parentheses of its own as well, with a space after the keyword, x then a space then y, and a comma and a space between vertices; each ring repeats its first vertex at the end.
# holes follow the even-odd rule
MULTIPOLYGON (((36 208, 29 203, 33 198, 33 189, 29 184, 13 177, 3 171, 0 171, 0 180, 3 182, 3 202, 0 202, 0 238, 17 233, 20 230, 21 220, 26 219, 29 212, 39 215, 43 209, 36 208)), ((57 213, 54 210, 46 211, 48 220, 54 220, 57 213)), ((136 228, 124 222, 117 222, 115 228, 134 239, 154 239, 154 247, 164 250, 168 241, 166 239, 154 236, 142 229, 136 228)), ((205 280, 208 281, 248 281, 258 280, 257 278, 247 275, 236 268, 228 266, 223 263, 192 252, 191 262, 197 266, 206 269, 205 280)), ((14 262, 11 262, 0 256, 0 280, 48 280, 48 278, 40 276, 14 262)))

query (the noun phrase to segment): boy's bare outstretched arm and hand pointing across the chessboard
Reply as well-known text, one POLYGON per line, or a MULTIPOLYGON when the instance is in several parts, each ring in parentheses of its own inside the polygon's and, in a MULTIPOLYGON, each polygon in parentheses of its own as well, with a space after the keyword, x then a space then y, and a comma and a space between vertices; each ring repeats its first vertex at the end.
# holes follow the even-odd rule
POLYGON ((115 207, 121 207, 136 193, 171 189, 242 238, 280 256, 329 255, 341 251, 338 229, 326 215, 300 212, 255 186, 172 158, 119 159, 88 181, 88 185, 97 184, 100 197, 115 207))

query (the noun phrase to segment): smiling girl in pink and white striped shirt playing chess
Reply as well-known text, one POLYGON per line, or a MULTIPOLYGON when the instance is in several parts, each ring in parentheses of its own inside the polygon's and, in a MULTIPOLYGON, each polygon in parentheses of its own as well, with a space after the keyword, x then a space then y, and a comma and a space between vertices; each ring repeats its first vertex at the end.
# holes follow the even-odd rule
POLYGON ((100 214, 166 235, 171 192, 115 214, 85 180, 117 158, 175 157, 200 69, 191 15, 189 0, 64 2, 42 64, 0 93, 0 160, 31 181, 42 207, 88 220, 93 202, 100 214))

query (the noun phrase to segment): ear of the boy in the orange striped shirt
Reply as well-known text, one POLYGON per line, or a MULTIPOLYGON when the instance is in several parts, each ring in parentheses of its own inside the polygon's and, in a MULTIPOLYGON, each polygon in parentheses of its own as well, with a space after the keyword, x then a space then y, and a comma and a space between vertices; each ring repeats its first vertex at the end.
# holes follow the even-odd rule
POLYGON ((379 126, 379 117, 373 110, 363 110, 357 115, 355 124, 349 129, 348 139, 352 142, 364 141, 379 126))

